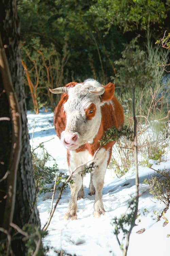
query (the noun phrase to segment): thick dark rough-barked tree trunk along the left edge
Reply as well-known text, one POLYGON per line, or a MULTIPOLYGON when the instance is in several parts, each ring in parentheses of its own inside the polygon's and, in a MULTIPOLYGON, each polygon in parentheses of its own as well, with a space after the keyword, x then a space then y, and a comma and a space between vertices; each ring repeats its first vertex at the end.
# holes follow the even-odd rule
MULTIPOLYGON (((21 149, 20 159, 17 168, 16 180, 16 200, 13 215, 13 223, 22 228, 24 225, 40 225, 38 210, 35 204, 36 189, 33 179, 32 155, 29 142, 26 115, 26 97, 22 80, 22 65, 19 45, 19 19, 17 15, 16 0, 0 1, 0 34, 2 44, 5 48, 8 66, 11 73, 12 85, 16 92, 20 115, 21 115, 21 149)), ((12 122, 10 105, 7 94, 4 91, 2 75, 0 75, 0 117, 8 117, 10 120, 0 121, 0 226, 4 224, 5 204, 9 188, 7 178, 4 178, 10 166, 12 122)), ((14 232, 14 229, 13 229, 14 232)), ((12 234, 12 232, 10 233, 12 234)), ((22 241, 21 235, 12 243, 13 252, 16 255, 25 255, 27 248, 26 241, 22 241)))

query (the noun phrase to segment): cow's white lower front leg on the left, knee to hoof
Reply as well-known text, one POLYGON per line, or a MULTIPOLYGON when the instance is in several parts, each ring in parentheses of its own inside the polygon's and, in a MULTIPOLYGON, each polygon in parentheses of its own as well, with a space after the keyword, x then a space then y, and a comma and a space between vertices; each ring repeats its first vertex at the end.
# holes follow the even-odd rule
POLYGON ((73 183, 70 184, 71 188, 71 197, 68 204, 67 212, 64 216, 64 219, 68 220, 69 218, 77 219, 77 196, 78 192, 82 185, 82 177, 81 174, 75 174, 73 176, 73 183))

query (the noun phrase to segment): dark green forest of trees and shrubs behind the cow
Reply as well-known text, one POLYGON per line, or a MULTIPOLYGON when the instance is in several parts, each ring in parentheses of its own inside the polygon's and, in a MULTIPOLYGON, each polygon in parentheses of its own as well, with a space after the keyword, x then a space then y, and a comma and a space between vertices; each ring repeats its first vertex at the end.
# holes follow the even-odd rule
POLYGON ((116 94, 127 100, 134 79, 137 98, 144 88, 143 102, 149 101, 150 87, 168 95, 163 77, 169 51, 155 43, 170 31, 169 0, 18 0, 17 5, 28 109, 54 109, 60 96, 54 100, 49 88, 87 78, 115 83, 116 94))

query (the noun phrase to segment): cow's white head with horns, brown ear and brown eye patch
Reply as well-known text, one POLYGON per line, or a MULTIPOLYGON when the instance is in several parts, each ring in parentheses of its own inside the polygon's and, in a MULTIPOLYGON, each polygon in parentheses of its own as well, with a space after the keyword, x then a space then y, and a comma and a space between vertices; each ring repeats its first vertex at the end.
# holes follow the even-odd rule
MULTIPOLYGON (((64 104, 67 122, 61 134, 62 144, 69 150, 75 150, 85 143, 93 143, 101 123, 101 105, 114 96, 114 84, 102 86, 94 79, 85 80, 74 87, 50 89, 51 93, 67 93, 64 104)), ((107 114, 107 113, 106 113, 107 114)))

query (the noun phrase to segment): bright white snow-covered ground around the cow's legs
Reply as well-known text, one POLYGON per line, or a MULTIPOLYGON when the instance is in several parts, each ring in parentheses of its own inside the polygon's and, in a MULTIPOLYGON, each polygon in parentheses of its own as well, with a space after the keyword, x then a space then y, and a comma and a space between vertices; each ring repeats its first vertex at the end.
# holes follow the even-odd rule
MULTIPOLYGON (((30 132, 30 143, 35 148, 39 143, 44 143, 48 152, 56 159, 58 168, 61 171, 68 171, 66 160, 66 149, 57 138, 53 125, 53 113, 31 114, 28 111, 28 127, 30 132), (35 122, 35 128, 34 126, 35 122), (33 134, 33 139, 32 139, 33 134), (53 139, 52 139, 53 138, 53 139), (50 140, 52 139, 52 140, 50 140)), ((49 162, 49 165, 52 165, 49 162)), ((166 152, 163 161, 152 166, 153 169, 170 169, 170 152, 166 152)), ((154 171, 147 167, 139 166, 139 192, 147 190, 143 180, 154 174, 154 171)), ((63 249, 70 254, 77 256, 120 256, 122 252, 117 239, 113 234, 114 227, 112 219, 124 214, 129 202, 135 194, 135 174, 133 171, 126 173, 120 179, 115 177, 114 171, 108 169, 105 175, 103 188, 103 203, 105 215, 99 219, 93 216, 94 196, 89 196, 89 174, 84 178, 84 199, 78 201, 78 218, 74 221, 64 221, 63 217, 67 211, 70 198, 70 189, 62 194, 50 226, 44 244, 52 247, 48 255, 56 255, 54 250, 63 249)), ((57 198, 58 191, 55 195, 57 198)), ((49 217, 52 193, 41 194, 38 197, 38 209, 43 227, 49 217)), ((139 198, 139 217, 136 220, 137 226, 132 230, 128 256, 160 256, 170 255, 170 209, 166 212, 169 223, 163 227, 165 219, 157 222, 157 212, 160 213, 165 205, 153 199, 149 192, 143 193, 139 198), (136 233, 145 228, 145 232, 136 233)), ((121 238, 120 238, 121 240, 121 238)))

